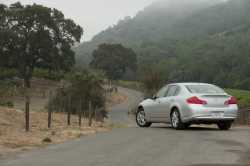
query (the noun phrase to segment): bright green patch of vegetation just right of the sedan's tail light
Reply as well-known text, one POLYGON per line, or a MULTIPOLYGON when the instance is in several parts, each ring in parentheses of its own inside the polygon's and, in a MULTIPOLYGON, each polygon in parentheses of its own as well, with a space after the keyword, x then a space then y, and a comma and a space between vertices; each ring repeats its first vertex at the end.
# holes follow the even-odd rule
POLYGON ((250 91, 226 89, 226 92, 237 98, 240 108, 250 107, 250 91))

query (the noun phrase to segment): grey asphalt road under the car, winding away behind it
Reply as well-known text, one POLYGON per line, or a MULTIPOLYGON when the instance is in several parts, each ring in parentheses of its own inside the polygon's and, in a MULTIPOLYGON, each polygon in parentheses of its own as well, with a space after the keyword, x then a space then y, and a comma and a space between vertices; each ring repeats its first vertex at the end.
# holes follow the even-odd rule
MULTIPOLYGON (((110 118, 115 122, 129 123, 128 107, 140 98, 140 94, 121 90, 128 93, 130 100, 115 106, 110 118)), ((215 127, 192 127, 175 131, 168 125, 145 129, 132 125, 0 160, 0 166, 142 165, 250 165, 250 128, 235 127, 230 131, 219 131, 215 127)))

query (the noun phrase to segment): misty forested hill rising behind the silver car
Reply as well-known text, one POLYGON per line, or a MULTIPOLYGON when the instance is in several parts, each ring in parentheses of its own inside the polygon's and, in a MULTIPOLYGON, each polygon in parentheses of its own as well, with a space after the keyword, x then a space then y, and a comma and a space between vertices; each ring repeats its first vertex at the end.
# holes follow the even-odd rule
POLYGON ((78 58, 87 64, 91 52, 100 43, 122 43, 136 51, 139 68, 152 62, 172 63, 174 58, 175 65, 182 68, 181 73, 184 69, 186 73, 182 76, 180 71, 174 70, 176 74, 165 75, 167 80, 209 81, 250 89, 246 75, 239 73, 247 73, 244 71, 249 69, 241 64, 250 61, 250 51, 247 50, 249 18, 249 0, 162 0, 146 7, 134 18, 127 17, 99 33, 92 41, 76 48, 76 52, 78 58), (221 64, 213 62, 219 60, 221 64), (201 64, 203 61, 205 64, 201 64), (208 71, 205 67, 215 67, 221 77, 215 78, 211 73, 216 71, 208 71), (221 80, 222 76, 226 77, 223 78, 226 81, 221 80), (233 77, 234 81, 228 81, 229 77, 233 77), (246 87, 248 83, 249 87, 246 87))

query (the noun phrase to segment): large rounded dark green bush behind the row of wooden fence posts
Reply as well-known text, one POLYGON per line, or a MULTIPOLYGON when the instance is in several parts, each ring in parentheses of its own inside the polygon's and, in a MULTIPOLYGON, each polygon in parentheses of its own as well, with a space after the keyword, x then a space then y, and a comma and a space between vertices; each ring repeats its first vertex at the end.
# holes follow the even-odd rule
POLYGON ((105 110, 104 77, 102 74, 90 70, 74 71, 68 74, 67 82, 51 97, 48 107, 57 112, 81 111, 89 116, 89 103, 97 112, 96 117, 102 121, 107 117, 105 110))

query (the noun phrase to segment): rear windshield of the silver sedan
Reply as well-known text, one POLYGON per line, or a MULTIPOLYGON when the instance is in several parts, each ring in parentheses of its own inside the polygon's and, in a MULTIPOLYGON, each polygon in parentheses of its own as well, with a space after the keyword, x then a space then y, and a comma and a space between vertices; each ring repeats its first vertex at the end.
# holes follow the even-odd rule
POLYGON ((206 94, 216 94, 225 93, 221 88, 214 85, 186 85, 186 88, 190 93, 206 93, 206 94))

